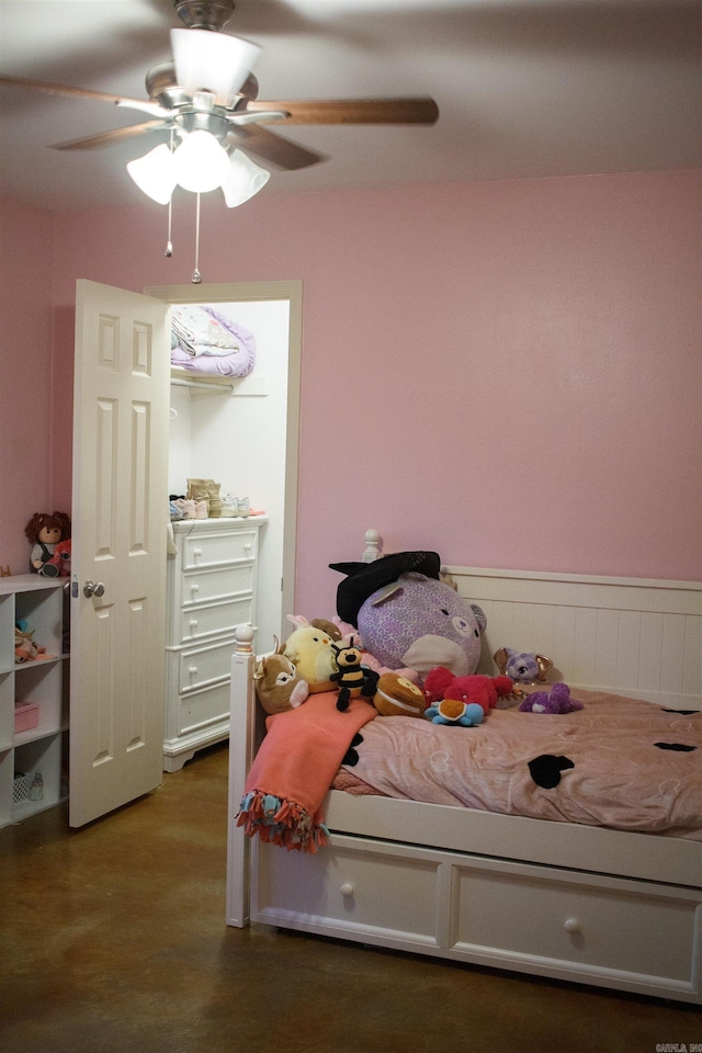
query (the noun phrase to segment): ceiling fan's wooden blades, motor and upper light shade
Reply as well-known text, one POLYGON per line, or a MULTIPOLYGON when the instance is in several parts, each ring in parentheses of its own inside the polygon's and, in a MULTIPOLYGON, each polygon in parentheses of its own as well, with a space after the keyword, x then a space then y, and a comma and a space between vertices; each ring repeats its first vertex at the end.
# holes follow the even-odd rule
POLYGON ((13 77, 0 77, 0 83, 110 102, 151 117, 54 144, 54 149, 98 149, 163 131, 171 133, 172 146, 173 138, 185 140, 194 132, 208 132, 226 151, 241 148, 283 170, 306 168, 326 158, 263 125, 433 124, 439 116, 437 103, 427 97, 259 101, 251 69, 261 48, 220 32, 234 12, 234 0, 173 0, 173 5, 184 29, 171 30, 173 61, 148 71, 148 101, 13 77))

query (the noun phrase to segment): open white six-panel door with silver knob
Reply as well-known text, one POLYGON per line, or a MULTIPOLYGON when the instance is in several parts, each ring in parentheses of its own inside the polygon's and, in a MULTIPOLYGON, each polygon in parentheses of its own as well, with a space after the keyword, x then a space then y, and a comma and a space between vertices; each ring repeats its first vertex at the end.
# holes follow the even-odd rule
POLYGON ((71 826, 162 781, 167 315, 150 296, 77 283, 71 826))

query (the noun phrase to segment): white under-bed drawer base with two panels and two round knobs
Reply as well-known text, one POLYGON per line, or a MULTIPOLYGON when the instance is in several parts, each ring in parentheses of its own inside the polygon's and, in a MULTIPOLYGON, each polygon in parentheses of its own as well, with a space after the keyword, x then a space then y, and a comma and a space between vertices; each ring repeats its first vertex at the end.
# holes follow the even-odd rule
POLYGON ((700 890, 346 835, 312 857, 254 857, 257 921, 700 1000, 700 890))

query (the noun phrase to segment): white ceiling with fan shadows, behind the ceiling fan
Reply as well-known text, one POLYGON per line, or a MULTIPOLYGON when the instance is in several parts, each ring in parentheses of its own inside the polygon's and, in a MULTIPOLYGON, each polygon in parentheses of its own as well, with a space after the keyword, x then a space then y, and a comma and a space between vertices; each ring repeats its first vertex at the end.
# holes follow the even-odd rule
MULTIPOLYGON (((180 25, 172 0, 0 0, 0 71, 146 99, 180 25)), ((330 160, 273 171, 264 194, 699 167, 701 31, 702 0, 237 0, 226 26, 263 47, 262 100, 439 104, 433 127, 285 129, 330 160)), ((159 139, 48 148, 139 120, 1 87, 2 193, 52 211, 143 203, 124 166, 159 139)))

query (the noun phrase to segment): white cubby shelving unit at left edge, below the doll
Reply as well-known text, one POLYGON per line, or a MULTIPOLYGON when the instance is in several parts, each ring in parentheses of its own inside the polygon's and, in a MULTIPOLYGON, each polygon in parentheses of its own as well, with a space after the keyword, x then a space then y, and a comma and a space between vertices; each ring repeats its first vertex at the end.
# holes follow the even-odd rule
POLYGON ((0 827, 52 808, 68 795, 67 581, 35 574, 0 578, 0 827), (15 663, 16 622, 26 623, 47 657, 15 663), (37 724, 15 732, 15 707, 24 703, 38 707, 37 724), (37 773, 42 785, 32 788, 37 773))

